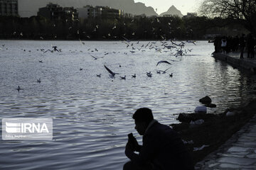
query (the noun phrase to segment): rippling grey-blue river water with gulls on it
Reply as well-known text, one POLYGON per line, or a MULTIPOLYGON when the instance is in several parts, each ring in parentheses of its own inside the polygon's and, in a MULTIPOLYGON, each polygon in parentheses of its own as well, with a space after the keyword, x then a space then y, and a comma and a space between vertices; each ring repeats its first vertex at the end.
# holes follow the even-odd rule
POLYGON ((151 108, 154 118, 169 125, 178 123, 178 113, 193 113, 206 95, 217 105, 208 113, 252 97, 252 75, 216 61, 213 44, 187 42, 186 55, 176 57, 163 43, 171 45, 0 40, 0 117, 53 119, 52 141, 1 140, 1 169, 122 169, 127 134, 142 140, 132 120, 137 108, 151 108), (46 52, 52 46, 61 52, 46 52), (156 66, 161 60, 171 64, 156 66), (119 75, 110 78, 104 64, 119 75))

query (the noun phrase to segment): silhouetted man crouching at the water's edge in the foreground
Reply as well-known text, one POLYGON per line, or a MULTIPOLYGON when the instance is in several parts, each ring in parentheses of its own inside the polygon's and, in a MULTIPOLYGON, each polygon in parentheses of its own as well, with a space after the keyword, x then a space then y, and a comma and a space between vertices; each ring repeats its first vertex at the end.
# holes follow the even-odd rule
POLYGON ((129 137, 125 154, 131 161, 124 164, 124 170, 194 169, 181 137, 168 125, 154 120, 149 108, 139 108, 132 118, 135 129, 143 135, 143 145, 139 145, 135 137, 129 137))

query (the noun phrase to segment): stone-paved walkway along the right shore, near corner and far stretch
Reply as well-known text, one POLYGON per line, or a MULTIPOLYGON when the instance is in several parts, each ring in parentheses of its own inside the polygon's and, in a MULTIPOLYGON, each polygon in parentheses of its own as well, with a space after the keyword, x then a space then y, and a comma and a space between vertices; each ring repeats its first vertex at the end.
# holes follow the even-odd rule
MULTIPOLYGON (((228 54, 217 53, 213 57, 227 61, 234 66, 244 69, 253 70, 256 67, 255 59, 247 59, 247 54, 244 54, 244 59, 240 62, 240 53, 230 52, 228 54), (222 59, 220 58, 222 57, 222 59), (234 60, 233 60, 233 59, 234 60)), ((255 111, 256 112, 256 111, 255 111)), ((219 147, 215 152, 212 152, 203 161, 198 162, 195 169, 256 169, 256 115, 233 137, 219 147)))

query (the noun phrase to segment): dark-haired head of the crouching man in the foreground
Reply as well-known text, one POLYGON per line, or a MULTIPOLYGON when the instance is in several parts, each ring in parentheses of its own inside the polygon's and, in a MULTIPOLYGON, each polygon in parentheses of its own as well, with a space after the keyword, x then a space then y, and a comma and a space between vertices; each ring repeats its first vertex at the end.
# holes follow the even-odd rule
POLYGON ((152 111, 149 108, 139 108, 132 118, 135 121, 135 129, 139 135, 144 135, 149 123, 154 120, 152 111))

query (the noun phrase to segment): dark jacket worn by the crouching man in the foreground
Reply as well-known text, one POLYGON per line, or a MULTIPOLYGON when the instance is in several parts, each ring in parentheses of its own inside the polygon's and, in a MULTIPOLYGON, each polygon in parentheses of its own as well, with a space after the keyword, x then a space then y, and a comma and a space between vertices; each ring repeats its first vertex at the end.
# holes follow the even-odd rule
POLYGON ((142 139, 139 154, 127 152, 127 157, 135 164, 154 164, 154 169, 191 170, 193 163, 178 133, 167 125, 154 120, 142 139))

